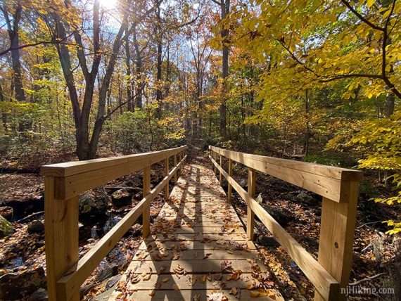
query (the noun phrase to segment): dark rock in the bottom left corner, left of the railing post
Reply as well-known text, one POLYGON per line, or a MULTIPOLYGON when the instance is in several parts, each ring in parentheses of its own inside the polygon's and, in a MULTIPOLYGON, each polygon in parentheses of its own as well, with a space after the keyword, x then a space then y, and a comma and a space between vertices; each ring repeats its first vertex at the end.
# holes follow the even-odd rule
POLYGON ((0 300, 17 300, 46 288, 44 268, 25 269, 0 276, 0 300))

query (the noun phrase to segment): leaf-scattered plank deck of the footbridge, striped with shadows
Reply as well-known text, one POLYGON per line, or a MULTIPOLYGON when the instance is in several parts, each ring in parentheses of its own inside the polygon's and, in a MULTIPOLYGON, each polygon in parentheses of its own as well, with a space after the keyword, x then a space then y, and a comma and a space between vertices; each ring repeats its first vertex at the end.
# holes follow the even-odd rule
POLYGON ((188 165, 110 300, 281 299, 254 288, 258 257, 212 170, 188 165))

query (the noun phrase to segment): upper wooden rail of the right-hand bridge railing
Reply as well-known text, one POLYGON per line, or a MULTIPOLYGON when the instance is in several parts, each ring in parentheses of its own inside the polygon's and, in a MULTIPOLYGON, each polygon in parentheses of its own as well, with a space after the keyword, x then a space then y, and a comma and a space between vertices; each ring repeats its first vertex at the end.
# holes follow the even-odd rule
POLYGON ((213 151, 236 162, 240 162, 243 165, 270 174, 296 186, 303 187, 336 202, 346 200, 349 196, 347 186, 341 185, 341 181, 348 181, 350 178, 355 178, 355 181, 363 179, 362 172, 352 169, 250 155, 227 151, 213 146, 211 148, 213 151))

